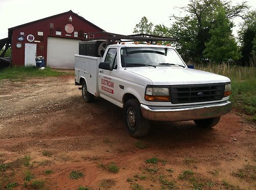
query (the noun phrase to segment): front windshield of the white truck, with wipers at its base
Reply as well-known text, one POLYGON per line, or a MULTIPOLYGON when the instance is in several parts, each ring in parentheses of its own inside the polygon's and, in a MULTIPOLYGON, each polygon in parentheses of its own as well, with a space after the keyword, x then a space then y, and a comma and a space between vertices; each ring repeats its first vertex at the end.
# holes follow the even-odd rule
POLYGON ((122 67, 185 67, 174 49, 157 47, 123 47, 121 48, 121 64, 122 67))

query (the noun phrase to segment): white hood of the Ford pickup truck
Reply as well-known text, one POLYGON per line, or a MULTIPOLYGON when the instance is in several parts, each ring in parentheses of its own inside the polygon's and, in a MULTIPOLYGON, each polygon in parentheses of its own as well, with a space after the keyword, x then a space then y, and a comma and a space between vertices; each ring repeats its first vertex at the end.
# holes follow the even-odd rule
POLYGON ((128 71, 150 79, 153 85, 191 85, 230 82, 228 77, 181 67, 136 67, 128 71))

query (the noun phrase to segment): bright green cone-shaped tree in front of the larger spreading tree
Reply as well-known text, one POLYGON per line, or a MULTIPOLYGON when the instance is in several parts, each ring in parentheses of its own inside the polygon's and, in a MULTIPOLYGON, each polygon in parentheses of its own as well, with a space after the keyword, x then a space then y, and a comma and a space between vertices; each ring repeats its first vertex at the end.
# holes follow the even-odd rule
POLYGON ((223 6, 214 13, 209 42, 205 44, 204 57, 211 62, 222 63, 239 59, 238 46, 232 36, 233 23, 227 18, 223 6))

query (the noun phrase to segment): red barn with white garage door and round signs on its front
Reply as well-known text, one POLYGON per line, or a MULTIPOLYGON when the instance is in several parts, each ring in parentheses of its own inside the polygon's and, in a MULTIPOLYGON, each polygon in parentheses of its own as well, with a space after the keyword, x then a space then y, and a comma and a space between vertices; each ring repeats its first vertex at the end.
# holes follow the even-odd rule
POLYGON ((43 56, 45 65, 51 68, 74 69, 74 54, 78 54, 84 33, 101 31, 71 10, 15 26, 8 29, 12 65, 35 65, 35 58, 43 56))

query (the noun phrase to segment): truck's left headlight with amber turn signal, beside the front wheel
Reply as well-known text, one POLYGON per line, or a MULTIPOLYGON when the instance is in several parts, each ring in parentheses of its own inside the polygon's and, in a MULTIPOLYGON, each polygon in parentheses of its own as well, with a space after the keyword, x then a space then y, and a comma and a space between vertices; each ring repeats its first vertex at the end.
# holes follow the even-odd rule
POLYGON ((167 87, 146 87, 146 101, 170 101, 169 88, 167 87))

